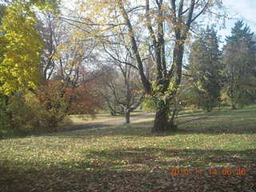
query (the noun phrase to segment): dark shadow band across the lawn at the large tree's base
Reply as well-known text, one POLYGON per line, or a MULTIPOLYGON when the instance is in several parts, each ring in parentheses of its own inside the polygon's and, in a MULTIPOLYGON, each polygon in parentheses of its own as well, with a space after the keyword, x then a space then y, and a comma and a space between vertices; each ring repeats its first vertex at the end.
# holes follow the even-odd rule
MULTIPOLYGON (((81 129, 74 131, 64 131, 54 134, 44 134, 43 136, 57 138, 102 138, 102 137, 165 137, 177 134, 256 134, 255 121, 245 122, 205 122, 210 118, 195 118, 184 120, 178 126, 178 130, 164 133, 151 133, 153 121, 124 124, 122 126, 100 126, 94 129, 81 129)), ((39 135, 40 136, 40 135, 39 135)), ((35 137, 38 137, 37 135, 35 137)))

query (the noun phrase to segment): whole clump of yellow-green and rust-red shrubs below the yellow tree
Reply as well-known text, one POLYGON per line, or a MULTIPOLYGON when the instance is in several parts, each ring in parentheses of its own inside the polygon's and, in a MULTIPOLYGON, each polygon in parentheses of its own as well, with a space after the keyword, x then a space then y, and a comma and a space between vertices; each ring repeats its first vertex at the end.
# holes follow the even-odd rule
POLYGON ((10 98, 6 111, 11 114, 12 130, 31 133, 40 129, 54 131, 68 114, 94 117, 102 109, 96 86, 68 87, 61 81, 48 81, 34 91, 19 91, 10 98))

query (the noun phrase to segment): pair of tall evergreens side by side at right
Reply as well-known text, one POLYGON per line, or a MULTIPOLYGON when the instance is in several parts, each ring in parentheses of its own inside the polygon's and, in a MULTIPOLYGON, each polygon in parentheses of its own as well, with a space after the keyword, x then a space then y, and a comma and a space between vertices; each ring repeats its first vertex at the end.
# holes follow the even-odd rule
POLYGON ((230 104, 231 109, 255 102, 256 41, 250 27, 235 23, 219 49, 217 31, 207 27, 192 43, 186 66, 187 103, 210 111, 230 104))

